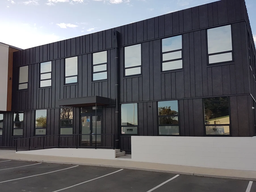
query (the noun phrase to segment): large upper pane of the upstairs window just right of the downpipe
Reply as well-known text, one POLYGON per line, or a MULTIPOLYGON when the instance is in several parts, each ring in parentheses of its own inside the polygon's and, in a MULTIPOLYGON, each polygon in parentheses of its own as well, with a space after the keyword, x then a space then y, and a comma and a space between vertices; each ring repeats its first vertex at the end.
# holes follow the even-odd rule
POLYGON ((141 48, 139 45, 125 47, 125 67, 141 65, 141 48))

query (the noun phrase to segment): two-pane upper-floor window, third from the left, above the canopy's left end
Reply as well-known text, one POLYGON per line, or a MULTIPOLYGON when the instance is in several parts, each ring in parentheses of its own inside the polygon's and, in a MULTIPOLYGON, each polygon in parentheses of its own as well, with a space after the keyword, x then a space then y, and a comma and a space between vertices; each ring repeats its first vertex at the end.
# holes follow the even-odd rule
POLYGON ((77 83, 77 57, 65 59, 65 84, 77 83))

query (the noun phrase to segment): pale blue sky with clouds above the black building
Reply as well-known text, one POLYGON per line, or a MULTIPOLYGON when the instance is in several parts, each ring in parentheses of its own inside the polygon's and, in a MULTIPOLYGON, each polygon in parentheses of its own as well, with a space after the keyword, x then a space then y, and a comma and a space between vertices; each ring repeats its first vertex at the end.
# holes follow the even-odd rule
MULTIPOLYGON (((0 42, 30 48, 215 0, 0 0, 0 42)), ((255 0, 245 0, 256 40, 255 0)))

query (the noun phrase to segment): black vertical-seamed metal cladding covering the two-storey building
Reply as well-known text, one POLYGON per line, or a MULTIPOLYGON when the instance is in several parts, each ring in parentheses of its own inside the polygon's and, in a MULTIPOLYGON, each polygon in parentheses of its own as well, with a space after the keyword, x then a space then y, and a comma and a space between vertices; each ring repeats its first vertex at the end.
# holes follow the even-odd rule
MULTIPOLYGON (((24 138, 34 135, 35 109, 47 109, 47 135, 59 133, 58 100, 102 96, 110 98, 110 105, 115 104, 114 31, 120 33, 119 105, 138 103, 138 135, 158 135, 157 101, 179 100, 180 135, 203 136, 202 98, 214 96, 230 96, 232 136, 255 135, 251 106, 255 103, 252 96, 255 98, 256 82, 253 74, 250 82, 248 78, 247 45, 253 43, 253 37, 245 2, 221 0, 14 52, 13 82, 18 82, 18 67, 29 65, 28 90, 17 91, 18 83, 12 90, 12 111, 24 111, 24 138), (207 66, 206 30, 224 25, 231 25, 234 61, 207 66), (176 35, 182 35, 183 69, 161 72, 161 39, 176 35), (139 43, 142 74, 124 77, 124 47, 139 43), (92 53, 103 50, 107 50, 108 78, 92 82, 92 53), (78 56, 78 81, 64 85, 64 59, 71 56, 78 56), (52 86, 39 88, 39 67, 45 61, 52 61, 52 86)), ((252 48, 255 53, 254 44, 252 48)), ((75 134, 79 134, 79 110, 74 107, 75 134)), ((0 145, 14 146, 12 118, 11 112, 5 113, 0 145)), ((115 108, 103 107, 102 134, 113 134, 115 125, 115 108)), ((131 137, 121 135, 120 130, 119 134, 119 147, 131 150, 131 137)))

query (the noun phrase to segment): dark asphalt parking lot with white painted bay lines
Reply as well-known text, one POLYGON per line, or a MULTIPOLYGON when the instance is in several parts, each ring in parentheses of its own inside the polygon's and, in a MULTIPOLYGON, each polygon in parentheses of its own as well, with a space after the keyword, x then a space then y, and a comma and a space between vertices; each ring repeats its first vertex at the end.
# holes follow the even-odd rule
POLYGON ((255 192, 256 182, 0 159, 1 192, 255 192))

